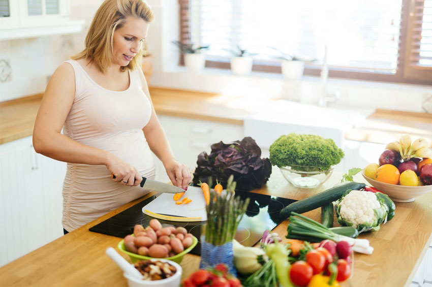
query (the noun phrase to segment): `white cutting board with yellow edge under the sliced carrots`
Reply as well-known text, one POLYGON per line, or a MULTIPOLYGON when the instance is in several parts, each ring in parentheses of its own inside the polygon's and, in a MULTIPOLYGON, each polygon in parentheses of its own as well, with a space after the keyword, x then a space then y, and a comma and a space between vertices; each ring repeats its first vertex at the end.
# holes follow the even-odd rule
POLYGON ((206 221, 207 211, 201 187, 189 186, 181 197, 188 197, 192 202, 175 204, 174 194, 163 193, 142 208, 142 212, 152 217, 170 221, 206 221), (169 215, 169 216, 167 216, 169 215))

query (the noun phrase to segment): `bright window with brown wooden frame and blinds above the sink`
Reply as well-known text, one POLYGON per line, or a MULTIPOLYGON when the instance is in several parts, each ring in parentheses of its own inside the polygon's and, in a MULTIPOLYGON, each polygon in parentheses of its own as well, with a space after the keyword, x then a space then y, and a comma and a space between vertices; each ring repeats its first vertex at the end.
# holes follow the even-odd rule
POLYGON ((280 72, 284 55, 320 75, 432 84, 432 0, 179 0, 180 41, 210 45, 206 66, 229 68, 237 47, 254 70, 280 72))

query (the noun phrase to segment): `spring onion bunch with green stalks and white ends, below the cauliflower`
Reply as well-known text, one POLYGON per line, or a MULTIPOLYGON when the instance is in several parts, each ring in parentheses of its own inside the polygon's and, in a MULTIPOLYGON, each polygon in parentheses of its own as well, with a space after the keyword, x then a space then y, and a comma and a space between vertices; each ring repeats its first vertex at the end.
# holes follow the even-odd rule
POLYGON ((353 250, 356 252, 372 254, 374 251, 374 248, 369 245, 369 240, 354 239, 348 236, 336 234, 319 222, 296 212, 291 212, 287 238, 310 242, 320 242, 325 239, 330 239, 335 242, 344 240, 351 244, 353 250))

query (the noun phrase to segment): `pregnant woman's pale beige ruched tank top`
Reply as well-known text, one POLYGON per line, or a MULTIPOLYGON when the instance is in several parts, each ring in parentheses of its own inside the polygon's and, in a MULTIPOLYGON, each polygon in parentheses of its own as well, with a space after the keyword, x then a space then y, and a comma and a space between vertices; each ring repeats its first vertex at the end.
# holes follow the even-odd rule
MULTIPOLYGON (((155 178, 155 162, 142 131, 151 104, 142 91, 138 70, 129 71, 130 85, 112 91, 97 84, 76 60, 66 61, 75 72, 75 98, 63 133, 79 143, 106 150, 155 178)), ((145 192, 111 180, 104 165, 67 165, 63 184, 63 227, 72 231, 107 212, 135 200, 145 192)))

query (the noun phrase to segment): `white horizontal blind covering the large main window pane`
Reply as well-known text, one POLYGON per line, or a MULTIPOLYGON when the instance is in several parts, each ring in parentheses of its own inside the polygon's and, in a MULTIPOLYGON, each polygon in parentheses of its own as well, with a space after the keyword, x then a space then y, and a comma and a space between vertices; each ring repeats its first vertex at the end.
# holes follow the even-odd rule
MULTIPOLYGON (((183 27, 188 28, 190 42, 210 45, 206 51, 210 60, 228 60, 231 53, 226 49, 237 46, 258 53, 254 56, 258 61, 275 60, 280 51, 321 60, 327 46, 329 66, 396 72, 402 0, 189 0, 188 4, 189 23, 183 27)), ((430 52, 428 37, 421 49, 430 52)))

